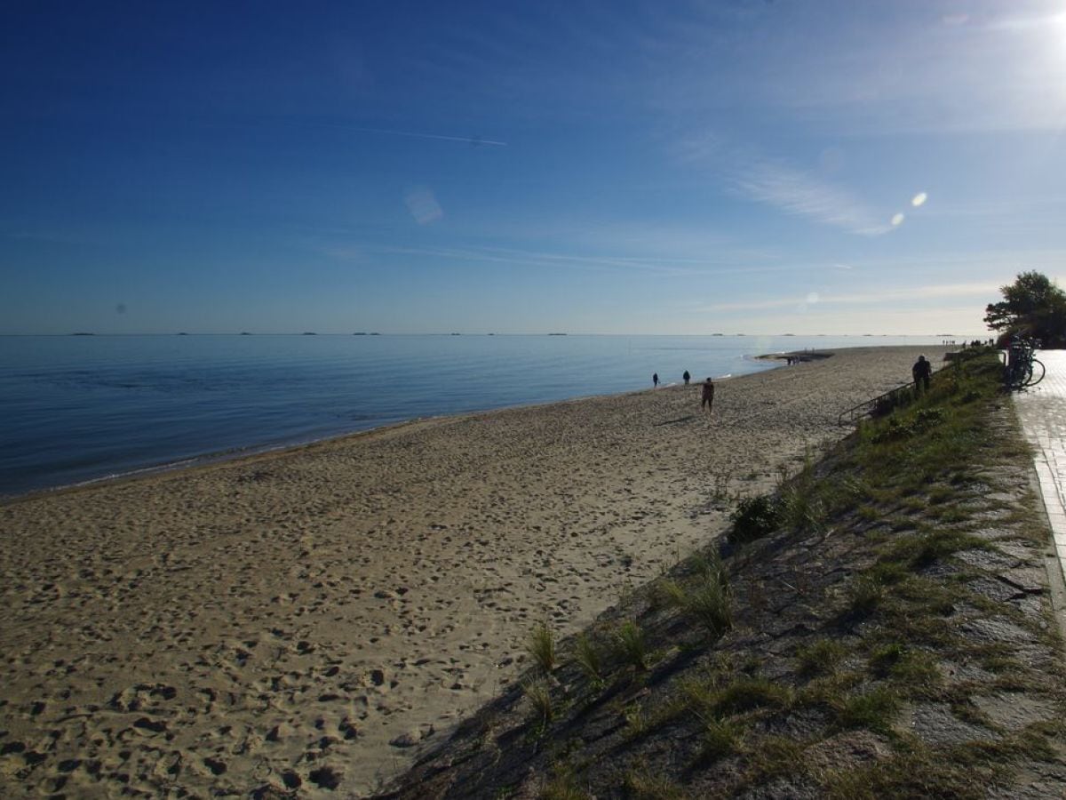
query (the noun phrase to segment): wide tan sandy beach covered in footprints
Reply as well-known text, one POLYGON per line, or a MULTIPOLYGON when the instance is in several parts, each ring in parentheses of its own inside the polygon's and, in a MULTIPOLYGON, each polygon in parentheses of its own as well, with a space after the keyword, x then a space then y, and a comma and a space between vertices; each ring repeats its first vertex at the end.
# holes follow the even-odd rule
POLYGON ((365 796, 924 352, 413 422, 0 506, 0 795, 365 796))

